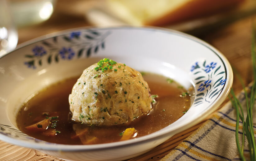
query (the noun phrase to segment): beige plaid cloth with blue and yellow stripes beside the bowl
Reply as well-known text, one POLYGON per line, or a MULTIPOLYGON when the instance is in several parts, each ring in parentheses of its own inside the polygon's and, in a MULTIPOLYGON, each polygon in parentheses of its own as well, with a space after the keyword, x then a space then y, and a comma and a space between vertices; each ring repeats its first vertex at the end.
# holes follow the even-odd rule
MULTIPOLYGON (((250 93, 251 86, 246 89, 250 93)), ((245 93, 242 91, 240 100, 246 117, 245 93)), ((254 137, 256 133, 256 109, 253 111, 254 137)), ((187 160, 240 160, 235 142, 236 111, 229 101, 220 111, 207 120, 192 135, 181 142, 161 161, 187 160)), ((240 143, 242 142, 242 122, 239 125, 240 143)), ((245 137, 245 158, 249 160, 248 142, 245 137)))

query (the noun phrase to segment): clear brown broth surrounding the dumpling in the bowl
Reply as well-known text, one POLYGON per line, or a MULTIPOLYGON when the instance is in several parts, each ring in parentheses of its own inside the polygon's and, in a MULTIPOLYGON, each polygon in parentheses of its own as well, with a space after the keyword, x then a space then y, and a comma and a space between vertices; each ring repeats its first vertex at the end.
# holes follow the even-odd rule
MULTIPOLYGON (((150 115, 141 116, 129 125, 113 125, 113 126, 96 126, 87 124, 79 124, 82 128, 88 128, 86 136, 94 136, 98 138, 98 143, 108 143, 119 141, 122 133, 126 128, 135 128, 137 131, 136 137, 141 137, 155 131, 158 131, 174 121, 178 120, 184 111, 189 109, 191 98, 190 95, 182 96, 187 92, 176 82, 168 82, 166 77, 147 73, 144 80, 148 82, 151 94, 157 94, 154 110, 150 115)), ((71 113, 69 111, 68 96, 75 84, 77 78, 67 79, 51 85, 42 90, 24 103, 17 115, 18 128, 31 137, 41 139, 48 142, 58 144, 83 144, 79 137, 76 136, 73 130, 71 121, 71 113), (46 136, 43 133, 31 132, 25 127, 35 124, 45 119, 44 112, 48 112, 49 117, 58 116, 57 127, 58 133, 55 136, 46 136)), ((77 126, 77 124, 75 125, 77 126)), ((47 130, 51 130, 49 127, 47 130)), ((133 137, 134 138, 134 137, 133 137)))

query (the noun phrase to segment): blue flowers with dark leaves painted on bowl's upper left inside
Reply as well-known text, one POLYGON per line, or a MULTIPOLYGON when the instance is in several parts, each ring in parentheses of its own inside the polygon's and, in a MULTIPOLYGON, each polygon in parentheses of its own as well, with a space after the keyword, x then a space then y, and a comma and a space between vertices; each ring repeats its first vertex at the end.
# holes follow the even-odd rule
POLYGON ((41 41, 40 46, 34 46, 31 53, 25 55, 24 65, 35 69, 43 65, 44 59, 47 60, 48 64, 51 64, 53 61, 58 63, 60 58, 71 60, 74 58, 90 57, 91 54, 97 54, 99 50, 104 50, 105 38, 109 34, 110 32, 79 31, 41 41), (62 48, 58 47, 58 41, 62 41, 60 39, 64 40, 63 44, 65 44, 62 48), (78 48, 78 50, 75 51, 72 47, 78 48))

